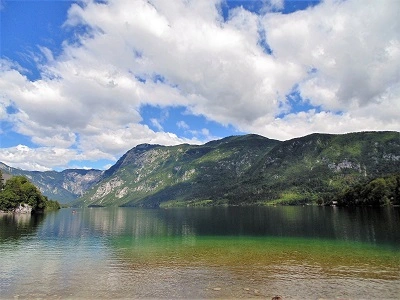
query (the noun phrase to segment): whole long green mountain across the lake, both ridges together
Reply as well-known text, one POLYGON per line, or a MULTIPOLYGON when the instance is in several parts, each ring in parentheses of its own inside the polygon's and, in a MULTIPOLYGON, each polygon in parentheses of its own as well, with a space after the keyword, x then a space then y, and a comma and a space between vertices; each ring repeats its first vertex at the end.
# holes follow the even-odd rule
POLYGON ((204 145, 139 145, 77 206, 186 206, 328 202, 345 187, 400 172, 399 132, 259 135, 204 145))

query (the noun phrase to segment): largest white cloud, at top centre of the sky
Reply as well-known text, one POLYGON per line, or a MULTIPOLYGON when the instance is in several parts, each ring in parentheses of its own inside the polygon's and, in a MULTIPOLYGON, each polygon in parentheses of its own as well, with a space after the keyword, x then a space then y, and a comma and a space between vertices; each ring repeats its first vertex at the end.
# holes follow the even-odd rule
POLYGON ((70 18, 100 28, 102 34, 84 40, 90 54, 143 77, 162 74, 179 87, 178 102, 164 90, 161 97, 146 99, 153 105, 188 105, 193 113, 223 124, 251 122, 277 112, 277 96, 284 97, 301 76, 297 66, 263 53, 257 44, 258 16, 242 8, 222 23, 215 3, 207 1, 109 6, 107 10, 104 5, 88 5, 71 11, 70 18), (105 45, 110 44, 124 46, 109 53, 105 45), (141 56, 133 58, 133 51, 141 56))

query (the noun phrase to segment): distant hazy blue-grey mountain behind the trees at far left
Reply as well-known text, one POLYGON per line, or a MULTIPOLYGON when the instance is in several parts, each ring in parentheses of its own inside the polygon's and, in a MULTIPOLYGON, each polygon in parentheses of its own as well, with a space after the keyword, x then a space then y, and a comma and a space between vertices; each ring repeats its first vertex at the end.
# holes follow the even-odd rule
POLYGON ((98 183, 103 175, 100 170, 67 169, 56 171, 25 171, 0 163, 0 169, 7 179, 11 175, 27 177, 43 195, 60 203, 68 203, 82 196, 91 186, 98 183))

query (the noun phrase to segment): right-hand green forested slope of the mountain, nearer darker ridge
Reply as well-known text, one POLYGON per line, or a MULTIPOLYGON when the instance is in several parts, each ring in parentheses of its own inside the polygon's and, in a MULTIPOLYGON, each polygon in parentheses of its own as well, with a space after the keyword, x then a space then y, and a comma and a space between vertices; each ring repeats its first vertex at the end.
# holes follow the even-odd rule
POLYGON ((301 204, 400 171, 400 133, 312 134, 282 142, 230 195, 231 203, 301 204))

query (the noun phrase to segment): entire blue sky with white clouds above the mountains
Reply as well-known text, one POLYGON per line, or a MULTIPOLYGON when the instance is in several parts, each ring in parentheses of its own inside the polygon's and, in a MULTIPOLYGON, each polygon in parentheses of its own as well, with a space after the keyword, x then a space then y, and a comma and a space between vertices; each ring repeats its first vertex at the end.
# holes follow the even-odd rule
POLYGON ((400 1, 0 0, 0 162, 400 131, 400 1))

